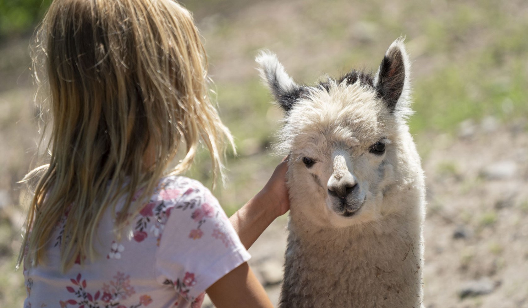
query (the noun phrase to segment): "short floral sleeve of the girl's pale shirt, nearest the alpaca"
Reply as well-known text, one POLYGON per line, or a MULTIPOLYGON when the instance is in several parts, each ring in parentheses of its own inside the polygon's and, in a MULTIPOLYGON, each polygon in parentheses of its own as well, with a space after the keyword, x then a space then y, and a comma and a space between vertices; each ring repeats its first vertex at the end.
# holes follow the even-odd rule
POLYGON ((218 200, 200 182, 189 180, 172 191, 161 191, 168 204, 167 219, 156 252, 156 280, 174 285, 193 301, 225 274, 249 260, 218 200), (167 199, 169 198, 169 199, 167 199))

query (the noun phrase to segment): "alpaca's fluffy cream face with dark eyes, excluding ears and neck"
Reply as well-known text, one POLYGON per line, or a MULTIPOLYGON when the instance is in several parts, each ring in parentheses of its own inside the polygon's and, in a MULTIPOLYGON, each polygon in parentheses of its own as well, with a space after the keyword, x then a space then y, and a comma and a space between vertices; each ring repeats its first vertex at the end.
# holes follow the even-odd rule
POLYGON ((290 194, 309 199, 294 210, 335 227, 376 219, 393 183, 395 121, 375 93, 334 83, 300 100, 286 120, 290 194))

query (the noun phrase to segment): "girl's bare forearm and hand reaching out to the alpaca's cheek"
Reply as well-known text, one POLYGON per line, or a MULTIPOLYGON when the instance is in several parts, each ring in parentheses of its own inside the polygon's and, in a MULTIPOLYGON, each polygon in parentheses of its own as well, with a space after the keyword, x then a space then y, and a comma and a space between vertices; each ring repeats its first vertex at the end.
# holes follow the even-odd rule
POLYGON ((229 218, 246 249, 253 245, 275 218, 290 209, 286 189, 287 158, 275 168, 264 188, 229 218))

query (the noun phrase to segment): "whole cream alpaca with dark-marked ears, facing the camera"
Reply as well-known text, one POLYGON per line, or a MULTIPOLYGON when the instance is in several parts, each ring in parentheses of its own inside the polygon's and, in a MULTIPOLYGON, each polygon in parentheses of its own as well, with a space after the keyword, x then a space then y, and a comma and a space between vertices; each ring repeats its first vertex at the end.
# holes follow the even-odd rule
POLYGON ((376 74, 298 85, 257 57, 285 111, 288 245, 280 307, 422 306, 425 184, 406 119, 409 57, 394 41, 376 74))

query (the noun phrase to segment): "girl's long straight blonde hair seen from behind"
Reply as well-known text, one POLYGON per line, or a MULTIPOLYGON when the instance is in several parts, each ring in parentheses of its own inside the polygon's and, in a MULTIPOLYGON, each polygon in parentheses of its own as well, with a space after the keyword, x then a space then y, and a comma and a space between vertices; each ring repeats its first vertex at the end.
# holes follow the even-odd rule
POLYGON ((206 54, 180 4, 55 0, 35 37, 34 67, 42 64, 45 75, 35 70, 35 80, 49 90, 44 109, 52 122, 43 144, 50 157, 23 180, 37 184, 18 265, 42 261, 67 213, 64 271, 77 256, 95 258, 97 224, 108 207, 115 213, 118 199, 126 197, 115 217, 119 236, 127 214, 139 211, 163 175, 190 168, 200 141, 214 183, 233 139, 209 100, 206 54), (183 159, 167 172, 182 143, 183 159), (155 163, 145 165, 145 158, 155 163))

